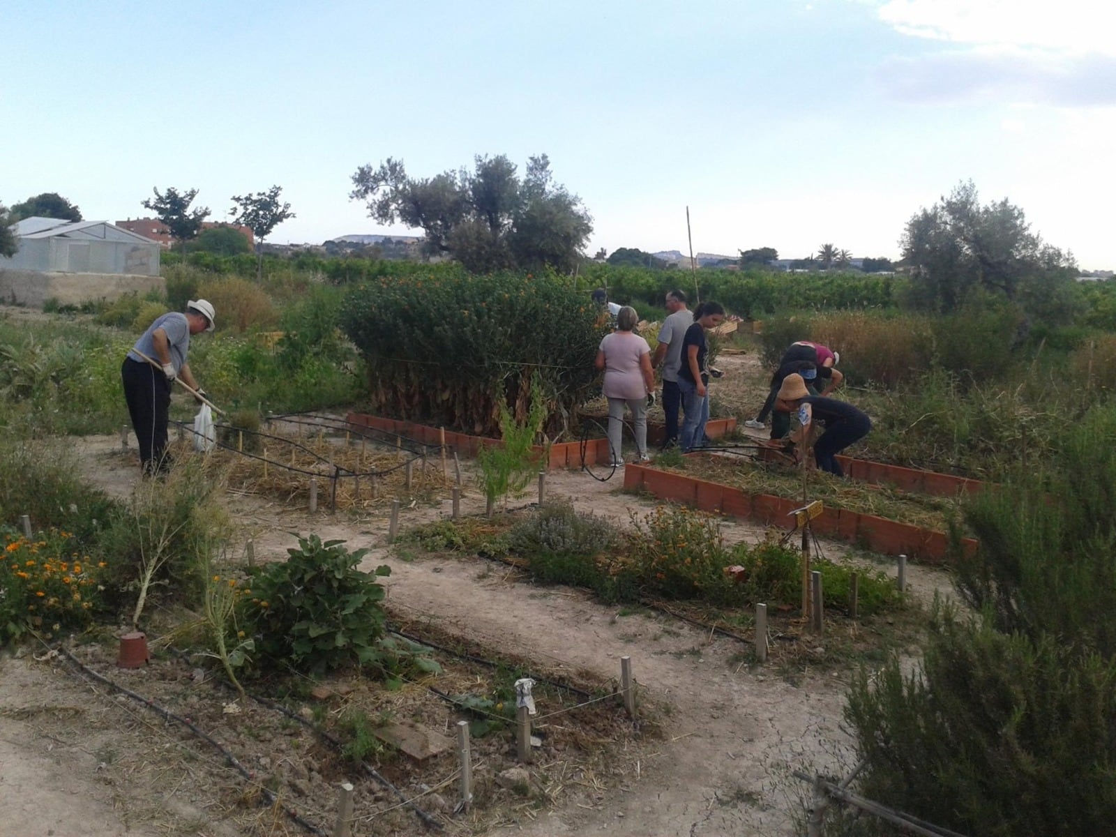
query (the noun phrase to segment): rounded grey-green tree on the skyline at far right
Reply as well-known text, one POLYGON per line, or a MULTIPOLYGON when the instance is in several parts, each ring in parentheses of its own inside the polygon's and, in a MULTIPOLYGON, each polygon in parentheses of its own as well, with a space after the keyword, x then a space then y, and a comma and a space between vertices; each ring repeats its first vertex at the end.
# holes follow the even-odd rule
POLYGON ((912 215, 899 247, 911 264, 913 301, 931 310, 955 310, 978 291, 1057 308, 1077 272, 1072 254, 1031 232, 1021 209, 1007 199, 981 205, 972 181, 912 215))

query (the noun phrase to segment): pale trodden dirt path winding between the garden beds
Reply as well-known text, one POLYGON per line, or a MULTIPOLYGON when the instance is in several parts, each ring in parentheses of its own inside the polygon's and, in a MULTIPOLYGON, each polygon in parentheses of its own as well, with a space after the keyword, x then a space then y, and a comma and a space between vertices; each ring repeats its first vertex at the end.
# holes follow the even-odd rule
MULTIPOLYGON (((128 496, 137 469, 119 454, 118 439, 83 440, 79 450, 96 484, 116 497, 128 496)), ((653 503, 619 493, 619 484, 618 477, 602 483, 577 472, 548 475, 550 497, 567 497, 578 509, 627 526, 629 510, 642 513, 653 503)), ((790 770, 831 764, 847 747, 839 729, 847 686, 844 672, 807 670, 785 677, 773 665, 750 670, 741 665, 745 650, 735 641, 711 639, 708 633, 666 617, 620 615, 626 612, 597 604, 583 591, 514 580, 499 565, 481 559, 400 560, 389 556, 385 543, 386 506, 359 514, 311 517, 277 502, 233 497, 229 509, 243 537, 253 538, 259 560, 286 558, 299 532, 344 539, 354 549, 372 548, 366 565, 386 559, 393 569, 386 579, 388 606, 414 622, 430 622, 493 648, 605 679, 618 679, 619 657, 632 657, 641 698, 657 713, 664 739, 653 754, 619 764, 627 777, 619 792, 606 796, 593 788, 578 789, 556 810, 535 821, 525 819, 514 827, 517 833, 537 837, 603 829, 665 837, 791 834, 789 812, 800 790, 799 782, 789 778, 790 770)), ((483 511, 475 490, 466 492, 462 511, 483 511)), ((404 510, 401 523, 412 526, 440 513, 440 503, 416 506, 404 510)), ((763 531, 725 521, 724 533, 727 540, 737 541, 759 539, 763 531)), ((844 552, 837 543, 822 546, 834 556, 844 552)), ((943 574, 921 567, 910 567, 908 579, 920 600, 949 588, 943 574)), ((20 701, 44 700, 49 679, 41 680, 41 673, 38 683, 20 685, 20 676, 36 676, 35 665, 8 661, 2 671, 0 821, 9 830, 0 828, 0 834, 47 834, 49 828, 58 835, 124 834, 123 824, 114 822, 112 796, 97 785, 96 766, 86 763, 87 758, 52 757, 35 727, 9 712, 22 705, 20 701), (50 811, 49 817, 42 811, 50 811), (55 825, 44 827, 48 819, 55 825), (86 826, 88 830, 77 830, 86 826)), ((142 830, 127 833, 145 837, 142 830)))

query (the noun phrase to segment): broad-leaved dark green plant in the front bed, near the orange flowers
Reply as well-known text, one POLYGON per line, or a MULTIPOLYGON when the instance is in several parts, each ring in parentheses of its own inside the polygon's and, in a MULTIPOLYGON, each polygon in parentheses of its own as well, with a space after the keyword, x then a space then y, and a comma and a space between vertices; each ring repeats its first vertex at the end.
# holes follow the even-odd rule
POLYGON ((375 579, 392 570, 357 569, 368 550, 350 552, 344 543, 299 538, 286 561, 253 579, 248 616, 260 635, 257 647, 273 666, 320 674, 382 662, 384 587, 375 579))

